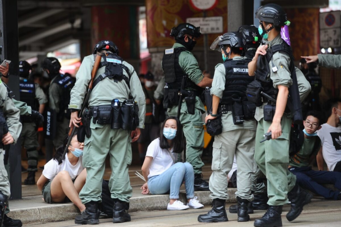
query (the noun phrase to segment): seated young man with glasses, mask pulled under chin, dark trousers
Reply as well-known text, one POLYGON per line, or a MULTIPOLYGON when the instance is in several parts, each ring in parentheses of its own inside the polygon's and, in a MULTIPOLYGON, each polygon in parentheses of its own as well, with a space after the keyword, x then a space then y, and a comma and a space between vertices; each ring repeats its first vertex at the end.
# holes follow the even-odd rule
MULTIPOLYGON (((317 111, 307 113, 304 124, 304 142, 300 150, 290 156, 289 171, 296 175, 296 182, 326 199, 341 200, 339 191, 333 191, 323 187, 321 184, 334 184, 341 190, 341 173, 329 171, 315 171, 309 166, 320 150, 321 140, 316 131, 321 129, 321 114, 317 111)), ((323 128, 323 127, 322 127, 323 128)))

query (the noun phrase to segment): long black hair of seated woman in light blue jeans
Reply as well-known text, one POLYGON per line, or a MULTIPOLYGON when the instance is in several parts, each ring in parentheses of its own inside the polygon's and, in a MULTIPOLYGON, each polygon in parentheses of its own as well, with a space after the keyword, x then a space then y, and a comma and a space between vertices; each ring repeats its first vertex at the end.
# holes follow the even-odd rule
POLYGON ((163 135, 163 128, 165 127, 166 121, 168 119, 174 119, 176 120, 176 126, 177 126, 177 130, 176 130, 176 136, 173 139, 173 147, 174 153, 181 153, 183 150, 183 143, 182 143, 182 128, 181 128, 181 124, 180 124, 180 120, 177 117, 167 117, 161 126, 161 132, 160 132, 160 147, 162 149, 168 149, 170 148, 167 138, 163 135))

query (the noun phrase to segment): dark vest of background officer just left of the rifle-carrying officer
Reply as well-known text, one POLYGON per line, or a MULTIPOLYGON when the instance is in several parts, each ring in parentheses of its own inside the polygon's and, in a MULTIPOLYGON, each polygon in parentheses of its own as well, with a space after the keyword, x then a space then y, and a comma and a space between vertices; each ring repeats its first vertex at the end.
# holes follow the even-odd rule
POLYGON ((71 112, 68 106, 70 104, 71 89, 75 85, 75 79, 70 76, 59 74, 53 81, 53 83, 58 84, 62 88, 62 95, 60 97, 59 114, 57 120, 61 121, 64 117, 70 119, 71 112))

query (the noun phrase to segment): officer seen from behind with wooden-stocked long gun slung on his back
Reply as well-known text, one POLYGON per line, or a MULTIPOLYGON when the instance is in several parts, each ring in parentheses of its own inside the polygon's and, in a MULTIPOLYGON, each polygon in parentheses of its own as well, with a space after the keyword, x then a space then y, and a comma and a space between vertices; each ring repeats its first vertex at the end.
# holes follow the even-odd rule
POLYGON ((131 142, 139 138, 140 128, 144 128, 146 113, 145 95, 134 68, 119 57, 118 48, 112 41, 103 40, 95 45, 94 55, 83 59, 77 72, 77 80, 71 90, 69 105, 72 111, 70 126, 74 124, 77 127, 80 120, 86 120, 85 116, 82 119, 78 118, 78 111, 81 110, 86 88, 91 79, 91 71, 95 67, 93 65, 97 52, 103 54, 100 68, 95 75, 89 101, 85 103, 92 117, 90 115, 87 118, 87 124, 83 124, 89 125, 90 131, 90 135, 85 138, 83 152, 83 166, 87 169, 87 178, 79 193, 86 210, 75 218, 76 224, 99 223, 98 204, 101 202, 104 164, 108 153, 112 169, 109 188, 111 198, 114 199, 113 222, 131 220, 127 213, 129 198, 132 196, 128 174, 128 166, 132 161, 131 142), (134 114, 130 115, 133 105, 136 108, 134 108, 134 114), (127 107, 128 113, 125 111, 127 107), (135 117, 138 119, 135 123, 139 122, 135 125, 136 129, 124 126, 127 118, 135 117))

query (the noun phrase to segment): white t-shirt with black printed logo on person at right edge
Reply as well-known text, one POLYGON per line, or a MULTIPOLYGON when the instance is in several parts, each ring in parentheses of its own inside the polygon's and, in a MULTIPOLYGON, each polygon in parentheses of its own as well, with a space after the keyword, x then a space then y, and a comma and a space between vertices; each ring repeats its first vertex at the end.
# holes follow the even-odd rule
POLYGON ((322 154, 328 169, 333 171, 336 163, 341 160, 341 126, 323 124, 317 136, 321 139, 322 154))

